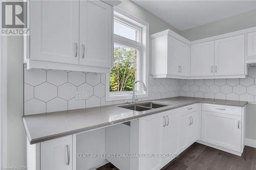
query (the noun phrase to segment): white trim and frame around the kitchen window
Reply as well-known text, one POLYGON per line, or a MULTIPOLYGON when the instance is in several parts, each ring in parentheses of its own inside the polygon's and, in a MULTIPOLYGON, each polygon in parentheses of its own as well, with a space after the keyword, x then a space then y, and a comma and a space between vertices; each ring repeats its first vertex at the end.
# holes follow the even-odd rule
MULTIPOLYGON (((142 62, 138 62, 140 64, 141 70, 139 71, 139 77, 142 78, 141 81, 143 81, 146 85, 146 88, 148 89, 148 55, 149 55, 149 48, 148 48, 148 23, 130 15, 129 13, 123 11, 120 8, 115 7, 114 8, 115 17, 117 18, 125 18, 131 24, 132 26, 138 27, 139 23, 139 29, 140 31, 140 40, 139 42, 135 42, 133 40, 130 40, 129 38, 120 38, 121 36, 113 34, 114 43, 120 43, 121 45, 127 45, 134 48, 139 48, 139 60, 142 59, 142 62)), ((114 28, 113 28, 114 29, 114 28)), ((106 74, 105 76, 105 101, 118 101, 118 100, 130 100, 132 99, 131 91, 120 91, 120 92, 110 92, 110 74, 106 74)), ((137 98, 147 98, 148 97, 148 90, 143 91, 142 85, 139 85, 140 89, 139 91, 136 91, 136 97, 137 98)))

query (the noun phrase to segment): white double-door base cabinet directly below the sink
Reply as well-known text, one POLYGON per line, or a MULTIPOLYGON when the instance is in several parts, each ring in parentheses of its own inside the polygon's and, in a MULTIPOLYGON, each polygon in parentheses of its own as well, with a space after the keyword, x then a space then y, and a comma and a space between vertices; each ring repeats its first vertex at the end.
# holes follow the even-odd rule
POLYGON ((165 111, 141 118, 140 169, 160 169, 179 154, 179 113, 165 111))

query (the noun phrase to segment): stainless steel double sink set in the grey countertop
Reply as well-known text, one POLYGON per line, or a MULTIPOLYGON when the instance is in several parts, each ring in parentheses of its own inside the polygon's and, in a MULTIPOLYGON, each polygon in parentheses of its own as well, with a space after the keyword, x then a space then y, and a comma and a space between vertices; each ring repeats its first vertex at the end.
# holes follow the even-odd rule
POLYGON ((145 110, 151 110, 151 109, 156 109, 156 108, 165 107, 165 106, 168 106, 168 105, 157 104, 153 102, 146 102, 146 103, 138 103, 138 104, 132 104, 132 105, 124 105, 119 107, 135 110, 135 111, 145 111, 145 110))

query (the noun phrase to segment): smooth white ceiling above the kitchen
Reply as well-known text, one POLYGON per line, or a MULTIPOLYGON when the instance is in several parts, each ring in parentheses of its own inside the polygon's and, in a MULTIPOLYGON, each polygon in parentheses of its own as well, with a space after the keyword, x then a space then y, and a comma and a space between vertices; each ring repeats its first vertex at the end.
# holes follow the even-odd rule
POLYGON ((137 1, 180 31, 256 9, 256 1, 137 1))

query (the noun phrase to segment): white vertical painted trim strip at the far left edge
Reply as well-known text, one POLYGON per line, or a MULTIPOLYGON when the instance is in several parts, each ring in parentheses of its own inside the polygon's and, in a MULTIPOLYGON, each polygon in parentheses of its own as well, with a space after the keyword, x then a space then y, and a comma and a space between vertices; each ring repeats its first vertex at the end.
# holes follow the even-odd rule
POLYGON ((7 37, 0 39, 0 164, 7 164, 7 37))

